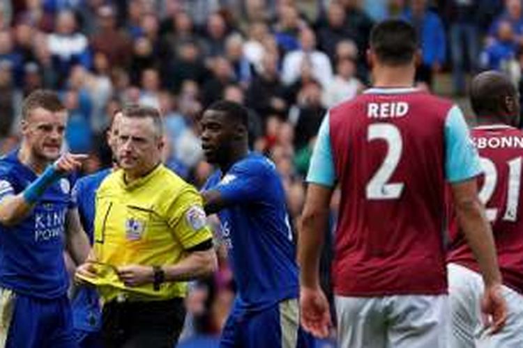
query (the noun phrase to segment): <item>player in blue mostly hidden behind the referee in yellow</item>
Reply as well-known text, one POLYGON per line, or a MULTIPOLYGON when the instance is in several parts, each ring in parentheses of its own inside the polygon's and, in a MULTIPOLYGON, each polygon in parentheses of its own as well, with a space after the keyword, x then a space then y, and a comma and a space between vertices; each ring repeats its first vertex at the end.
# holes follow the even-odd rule
MULTIPOLYGON (((107 130, 107 143, 112 153, 116 153, 116 139, 118 138, 118 124, 121 111, 114 113, 111 125, 107 130)), ((116 166, 116 162, 114 162, 116 166)), ((96 190, 105 177, 112 172, 112 168, 80 178, 73 187, 73 200, 75 201, 80 222, 93 244, 94 214, 96 190)), ((102 347, 100 337, 102 314, 98 293, 96 289, 89 286, 80 286, 73 299, 73 322, 75 325, 75 338, 82 348, 102 347)))

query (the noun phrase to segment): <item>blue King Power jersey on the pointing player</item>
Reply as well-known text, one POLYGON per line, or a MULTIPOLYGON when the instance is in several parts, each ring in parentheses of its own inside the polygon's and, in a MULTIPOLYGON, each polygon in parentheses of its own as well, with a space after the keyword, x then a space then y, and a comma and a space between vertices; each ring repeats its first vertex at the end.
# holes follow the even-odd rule
MULTIPOLYGON (((18 151, 0 159, 0 199, 18 194, 36 180, 18 151)), ((68 275, 63 261, 66 214, 74 207, 71 177, 47 188, 33 211, 15 226, 0 225, 0 287, 45 299, 63 296, 68 275)))

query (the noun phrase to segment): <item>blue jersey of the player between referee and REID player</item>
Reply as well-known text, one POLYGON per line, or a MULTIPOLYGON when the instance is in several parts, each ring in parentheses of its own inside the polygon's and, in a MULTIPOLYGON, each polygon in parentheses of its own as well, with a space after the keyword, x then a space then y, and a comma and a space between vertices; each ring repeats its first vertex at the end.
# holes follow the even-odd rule
POLYGON ((210 189, 220 191, 230 204, 218 216, 238 287, 238 306, 260 310, 296 298, 296 244, 273 162, 250 153, 225 175, 213 173, 204 187, 210 189))

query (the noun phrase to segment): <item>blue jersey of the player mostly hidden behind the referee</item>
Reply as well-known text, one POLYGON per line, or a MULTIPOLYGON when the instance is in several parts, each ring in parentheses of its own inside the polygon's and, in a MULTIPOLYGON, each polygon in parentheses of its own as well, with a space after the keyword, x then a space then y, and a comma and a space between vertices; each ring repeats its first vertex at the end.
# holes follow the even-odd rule
MULTIPOLYGON (((73 202, 78 207, 80 222, 93 244, 96 190, 111 169, 104 169, 80 178, 73 187, 73 202)), ((100 301, 96 289, 80 287, 73 299, 73 321, 75 329, 98 331, 101 327, 100 301)))

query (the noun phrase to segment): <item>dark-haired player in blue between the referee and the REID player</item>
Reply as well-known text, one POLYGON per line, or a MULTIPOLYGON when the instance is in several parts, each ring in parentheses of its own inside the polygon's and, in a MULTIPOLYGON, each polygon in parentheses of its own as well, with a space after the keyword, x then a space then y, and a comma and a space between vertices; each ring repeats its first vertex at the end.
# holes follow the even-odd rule
POLYGON ((218 213, 238 289, 220 347, 307 347, 296 247, 275 165, 249 152, 243 106, 215 102, 201 125, 204 155, 219 168, 205 184, 205 209, 218 213))

